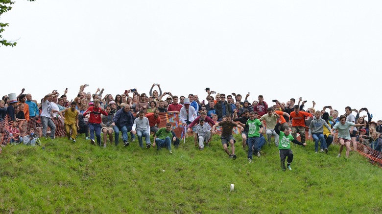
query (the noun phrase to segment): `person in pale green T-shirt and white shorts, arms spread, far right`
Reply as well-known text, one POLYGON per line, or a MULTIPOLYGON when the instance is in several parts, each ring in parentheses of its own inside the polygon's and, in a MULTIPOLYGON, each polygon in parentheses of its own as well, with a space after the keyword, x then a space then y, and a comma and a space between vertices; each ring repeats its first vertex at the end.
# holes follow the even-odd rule
POLYGON ((346 146, 346 158, 349 157, 350 141, 351 141, 349 128, 360 127, 360 126, 362 125, 346 121, 346 116, 344 115, 341 115, 339 117, 339 123, 336 123, 334 127, 332 128, 332 132, 334 132, 334 130, 338 130, 338 140, 339 140, 339 143, 341 144, 341 146, 339 147, 339 153, 337 157, 341 157, 341 152, 343 150, 344 145, 346 146))

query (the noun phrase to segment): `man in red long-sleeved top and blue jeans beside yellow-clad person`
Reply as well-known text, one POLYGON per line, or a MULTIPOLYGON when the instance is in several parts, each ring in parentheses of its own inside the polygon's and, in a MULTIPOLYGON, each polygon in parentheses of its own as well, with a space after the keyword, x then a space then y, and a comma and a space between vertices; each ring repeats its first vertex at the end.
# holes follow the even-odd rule
POLYGON ((94 132, 97 137, 97 144, 101 146, 101 114, 107 116, 107 112, 99 107, 99 100, 95 99, 92 107, 89 107, 85 112, 84 116, 90 114, 89 117, 89 130, 90 130, 90 143, 95 145, 94 132))

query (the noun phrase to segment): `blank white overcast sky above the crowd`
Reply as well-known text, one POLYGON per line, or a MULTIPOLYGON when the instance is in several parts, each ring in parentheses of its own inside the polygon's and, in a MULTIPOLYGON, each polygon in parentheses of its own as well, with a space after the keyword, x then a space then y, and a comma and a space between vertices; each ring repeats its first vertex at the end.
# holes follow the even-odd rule
MULTIPOLYGON (((382 119, 382 1, 16 0, 1 17, 1 96, 80 85, 113 96, 153 83, 173 95, 249 91, 272 105, 367 107, 382 119), (12 77, 13 76, 13 77, 12 77)), ((361 115, 364 115, 361 113, 361 115)))

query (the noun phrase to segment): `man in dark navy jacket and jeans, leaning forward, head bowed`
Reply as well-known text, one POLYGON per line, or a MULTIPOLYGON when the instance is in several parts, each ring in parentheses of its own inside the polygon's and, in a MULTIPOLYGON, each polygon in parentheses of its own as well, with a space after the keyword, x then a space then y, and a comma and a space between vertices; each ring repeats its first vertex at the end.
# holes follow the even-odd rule
POLYGON ((130 106, 126 105, 125 107, 119 109, 113 117, 113 128, 115 132, 115 142, 116 146, 118 145, 119 130, 122 131, 122 140, 124 146, 129 146, 130 143, 128 140, 127 132, 131 131, 134 124, 134 115, 130 112, 130 106))

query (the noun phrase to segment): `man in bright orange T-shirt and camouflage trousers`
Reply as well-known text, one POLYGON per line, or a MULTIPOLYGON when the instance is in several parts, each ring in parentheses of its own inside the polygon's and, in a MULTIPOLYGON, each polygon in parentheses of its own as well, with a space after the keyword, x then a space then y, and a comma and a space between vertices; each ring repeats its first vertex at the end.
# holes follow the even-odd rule
POLYGON ((305 143, 305 117, 310 116, 310 113, 300 111, 298 105, 294 106, 294 111, 290 112, 289 127, 292 127, 292 136, 297 139, 297 132, 300 133, 301 143, 305 143))

